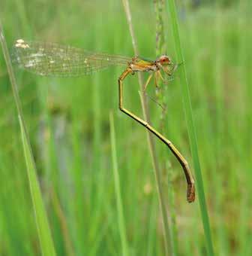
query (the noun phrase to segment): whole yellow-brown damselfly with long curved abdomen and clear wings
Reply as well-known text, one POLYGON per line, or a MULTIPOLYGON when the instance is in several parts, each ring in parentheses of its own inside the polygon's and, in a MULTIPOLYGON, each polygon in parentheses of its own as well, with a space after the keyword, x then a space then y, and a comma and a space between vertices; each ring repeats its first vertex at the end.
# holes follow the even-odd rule
POLYGON ((194 180, 187 161, 177 148, 172 145, 172 142, 158 133, 145 120, 124 108, 123 105, 123 81, 127 75, 133 75, 135 72, 149 72, 150 75, 144 88, 146 89, 153 75, 157 85, 159 79, 164 81, 161 72, 171 76, 178 67, 178 64, 174 64, 169 56, 163 55, 152 61, 138 56, 129 58, 104 53, 92 53, 76 47, 36 41, 26 42, 23 39, 17 40, 13 56, 13 61, 17 62, 20 68, 44 76, 72 77, 89 75, 109 66, 123 66, 125 68, 124 72, 118 78, 119 109, 133 118, 133 120, 142 124, 172 151, 184 169, 184 175, 187 180, 187 201, 189 203, 194 201, 194 180))

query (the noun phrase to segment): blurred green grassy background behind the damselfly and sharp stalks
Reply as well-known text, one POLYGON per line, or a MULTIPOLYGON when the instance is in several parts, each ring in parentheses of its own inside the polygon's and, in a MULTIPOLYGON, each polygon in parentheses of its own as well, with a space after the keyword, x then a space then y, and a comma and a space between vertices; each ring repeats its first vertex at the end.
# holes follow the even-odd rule
MULTIPOLYGON (((169 15, 166 47, 175 58, 169 15)), ((177 1, 205 196, 217 255, 252 254, 252 2, 177 1)), ((141 56, 155 59, 153 1, 130 1, 141 56)), ((121 1, 4 0, 8 46, 25 38, 133 56, 121 1)), ((129 255, 163 255, 163 230, 145 130, 118 111, 121 68, 83 78, 15 69, 43 201, 58 255, 121 255, 110 113, 129 255)), ((0 255, 40 255, 17 111, 0 54, 0 255)), ((136 76, 125 105, 142 115, 136 76)), ((148 95, 151 122, 193 165, 176 77, 148 95)), ((188 204, 181 166, 157 142, 171 239, 178 255, 205 255, 199 205, 188 204)))

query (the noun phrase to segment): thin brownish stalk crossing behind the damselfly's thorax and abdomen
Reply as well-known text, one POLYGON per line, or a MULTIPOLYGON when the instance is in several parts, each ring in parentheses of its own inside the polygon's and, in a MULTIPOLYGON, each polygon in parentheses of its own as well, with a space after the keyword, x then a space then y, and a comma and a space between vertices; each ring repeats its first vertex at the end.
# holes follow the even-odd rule
MULTIPOLYGON (((133 44, 133 50, 135 53, 135 56, 139 56, 139 50, 136 44, 136 37, 133 31, 133 23, 132 23, 132 17, 130 13, 130 6, 128 0, 122 0, 122 3, 124 5, 124 11, 127 17, 127 23, 129 26, 130 30, 130 35, 131 35, 131 40, 133 44)), ((138 74, 138 81, 139 81, 139 87, 140 87, 140 92, 144 91, 144 83, 143 83, 143 78, 142 74, 138 74)), ((141 99, 141 105, 142 105, 142 113, 143 113, 143 118, 146 120, 148 123, 150 122, 149 118, 149 112, 148 112, 148 105, 145 99, 145 96, 142 95, 142 93, 139 93, 140 99, 141 99)), ((158 161, 157 161, 157 152, 155 149, 154 145, 154 138, 151 135, 151 133, 147 132, 148 134, 148 148, 151 154, 151 160, 152 160, 152 166, 154 169, 154 175, 156 179, 156 184, 157 184, 157 194, 158 194, 158 199, 160 203, 160 209, 161 209, 161 215, 162 215, 162 222, 163 222, 163 237, 164 237, 164 245, 165 245, 165 253, 166 256, 169 255, 169 248, 171 248, 170 245, 170 240, 169 240, 169 225, 168 225, 168 216, 166 214, 166 203, 165 203, 165 198, 163 196, 163 190, 162 190, 162 185, 161 185, 161 177, 160 177, 160 169, 158 166, 158 161)))

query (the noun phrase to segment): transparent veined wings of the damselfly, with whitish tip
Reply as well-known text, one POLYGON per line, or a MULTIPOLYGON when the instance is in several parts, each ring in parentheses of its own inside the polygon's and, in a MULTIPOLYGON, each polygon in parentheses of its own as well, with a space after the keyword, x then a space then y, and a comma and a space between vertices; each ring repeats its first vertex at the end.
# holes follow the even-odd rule
POLYGON ((71 77, 89 75, 109 66, 127 66, 131 58, 92 53, 76 47, 17 40, 13 62, 37 75, 71 77))

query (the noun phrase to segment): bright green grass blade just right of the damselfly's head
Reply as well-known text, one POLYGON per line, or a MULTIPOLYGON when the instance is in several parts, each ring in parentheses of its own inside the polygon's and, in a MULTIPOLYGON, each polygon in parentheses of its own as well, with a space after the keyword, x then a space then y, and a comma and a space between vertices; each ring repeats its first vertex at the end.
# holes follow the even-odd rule
MULTIPOLYGON (((175 1, 167 0, 167 5, 169 7, 168 11, 172 21, 172 32, 175 40, 176 58, 178 62, 184 63, 184 56, 182 54, 181 41, 180 41, 180 36, 178 31, 178 18, 176 14, 175 1)), ((189 85, 187 82, 185 65, 181 66, 181 69, 180 69, 180 81, 181 81, 181 91, 182 91, 182 97, 183 97, 183 103, 184 103, 185 118, 187 121, 187 130, 188 130, 188 135, 190 140, 190 149, 193 156, 193 166, 194 166, 195 176, 196 176, 196 187, 198 190, 197 194, 199 197, 199 206, 200 206, 202 224, 205 232, 206 249, 207 249, 208 255, 210 256, 210 255, 214 255, 214 249, 213 249, 212 240, 211 240, 211 230, 210 230, 210 224, 208 219, 208 210, 205 203, 205 192, 204 192, 202 173, 201 173, 200 163, 199 163, 199 154, 198 154, 198 148, 196 143, 196 132, 195 132, 194 123, 193 123, 193 114, 192 114, 192 108, 190 103, 189 85)))

